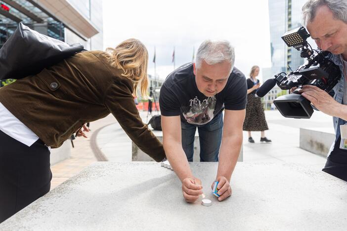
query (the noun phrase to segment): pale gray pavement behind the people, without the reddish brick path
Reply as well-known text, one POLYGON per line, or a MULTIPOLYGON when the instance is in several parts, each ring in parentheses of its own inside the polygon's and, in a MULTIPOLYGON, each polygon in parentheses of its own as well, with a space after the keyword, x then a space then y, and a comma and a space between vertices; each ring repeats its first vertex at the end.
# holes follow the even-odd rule
MULTIPOLYGON (((140 112, 144 122, 146 115, 147 112, 140 112)), ((260 143, 260 132, 252 132, 256 143, 251 144, 248 142, 248 133, 244 132, 244 162, 295 163, 312 165, 319 169, 324 166, 324 157, 299 148, 299 132, 301 127, 314 127, 333 133, 331 116, 314 112, 310 119, 294 119, 285 118, 278 111, 266 111, 265 117, 269 127, 265 136, 271 139, 272 143, 260 143)), ((131 140, 118 123, 103 127, 98 132, 96 144, 109 161, 131 161, 131 140)))

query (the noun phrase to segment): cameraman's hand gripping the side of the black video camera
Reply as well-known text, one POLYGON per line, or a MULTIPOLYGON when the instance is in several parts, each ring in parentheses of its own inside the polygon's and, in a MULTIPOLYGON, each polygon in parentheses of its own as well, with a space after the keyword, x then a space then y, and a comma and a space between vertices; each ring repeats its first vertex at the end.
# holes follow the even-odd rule
POLYGON ((304 85, 299 92, 322 113, 329 116, 338 116, 340 104, 336 102, 326 91, 312 85, 304 85))

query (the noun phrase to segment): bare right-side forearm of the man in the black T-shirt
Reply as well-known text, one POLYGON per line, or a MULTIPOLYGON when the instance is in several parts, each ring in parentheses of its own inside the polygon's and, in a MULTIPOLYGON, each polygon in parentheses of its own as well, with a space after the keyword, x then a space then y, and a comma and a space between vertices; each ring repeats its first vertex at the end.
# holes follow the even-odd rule
POLYGON ((223 137, 220 152, 217 177, 224 176, 229 182, 234 171, 242 145, 242 131, 229 137, 223 137))

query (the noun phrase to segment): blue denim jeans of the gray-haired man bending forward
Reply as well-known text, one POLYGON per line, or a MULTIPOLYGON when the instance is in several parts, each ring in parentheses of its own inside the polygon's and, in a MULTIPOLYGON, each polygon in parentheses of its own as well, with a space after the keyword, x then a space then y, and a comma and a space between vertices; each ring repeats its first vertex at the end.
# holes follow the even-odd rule
POLYGON ((223 115, 219 113, 210 122, 197 125, 181 122, 182 148, 188 161, 193 161, 194 136, 196 128, 199 132, 200 161, 217 162, 223 131, 223 115))

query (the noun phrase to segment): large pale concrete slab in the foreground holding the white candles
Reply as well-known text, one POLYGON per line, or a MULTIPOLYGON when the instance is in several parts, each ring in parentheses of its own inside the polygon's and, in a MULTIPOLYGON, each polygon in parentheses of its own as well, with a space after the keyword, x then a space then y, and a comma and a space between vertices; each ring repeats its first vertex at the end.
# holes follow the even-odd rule
POLYGON ((183 200, 173 171, 153 162, 98 162, 0 230, 346 230, 347 183, 299 164, 238 162, 233 194, 210 194, 217 163, 190 163, 212 206, 183 200))

